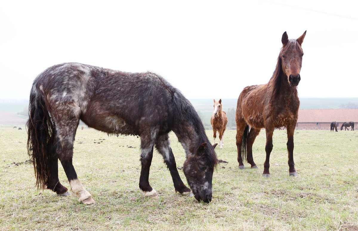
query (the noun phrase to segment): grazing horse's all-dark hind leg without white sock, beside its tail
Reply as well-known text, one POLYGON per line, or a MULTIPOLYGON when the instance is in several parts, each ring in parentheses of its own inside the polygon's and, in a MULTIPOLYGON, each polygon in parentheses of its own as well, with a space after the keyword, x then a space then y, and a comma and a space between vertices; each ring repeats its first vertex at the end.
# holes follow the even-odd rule
POLYGON ((51 189, 59 196, 66 197, 69 195, 67 188, 64 187, 58 179, 58 155, 56 152, 58 145, 59 143, 56 138, 56 131, 54 130, 48 142, 50 167, 49 167, 49 174, 47 180, 47 188, 51 189))

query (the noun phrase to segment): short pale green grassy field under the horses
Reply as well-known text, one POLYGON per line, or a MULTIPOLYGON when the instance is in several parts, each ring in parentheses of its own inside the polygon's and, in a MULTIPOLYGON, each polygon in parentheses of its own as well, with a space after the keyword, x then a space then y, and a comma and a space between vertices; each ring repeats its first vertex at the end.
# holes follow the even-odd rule
MULTIPOLYGON (((33 165, 25 163, 26 131, 0 127, 0 230, 358 230, 358 131, 296 131, 296 178, 288 173, 285 132, 274 133, 271 177, 263 178, 265 131, 253 146, 260 169, 239 170, 235 131, 227 130, 216 153, 228 163, 214 172, 212 202, 199 203, 174 192, 158 153, 149 180, 159 198, 142 195, 140 138, 78 130, 73 164, 97 202, 85 206, 37 191, 33 165)), ((184 150, 170 138, 181 167, 184 150)), ((61 164, 59 174, 69 187, 61 164)))

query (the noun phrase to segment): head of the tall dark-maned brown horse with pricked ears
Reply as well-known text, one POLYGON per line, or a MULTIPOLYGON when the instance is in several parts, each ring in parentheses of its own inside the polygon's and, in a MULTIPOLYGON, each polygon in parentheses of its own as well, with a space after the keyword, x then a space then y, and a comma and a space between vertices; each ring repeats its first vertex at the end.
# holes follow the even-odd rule
POLYGON ((301 80, 300 71, 302 67, 303 50, 301 44, 305 38, 306 31, 298 39, 289 39, 287 33, 282 34, 282 49, 280 58, 282 71, 287 76, 290 86, 297 86, 301 80))

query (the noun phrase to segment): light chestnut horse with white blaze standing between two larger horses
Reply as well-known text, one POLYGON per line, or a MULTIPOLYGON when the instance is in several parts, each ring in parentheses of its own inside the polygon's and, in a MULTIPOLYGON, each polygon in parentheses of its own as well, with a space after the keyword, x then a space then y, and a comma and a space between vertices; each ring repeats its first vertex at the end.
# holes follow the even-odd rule
POLYGON ((220 139, 219 146, 220 149, 222 149, 224 145, 223 135, 226 130, 227 116, 226 116, 226 112, 223 111, 221 99, 214 100, 214 112, 213 115, 211 116, 210 123, 211 126, 213 126, 213 133, 214 133, 213 144, 215 144, 216 132, 218 131, 219 139, 220 139))

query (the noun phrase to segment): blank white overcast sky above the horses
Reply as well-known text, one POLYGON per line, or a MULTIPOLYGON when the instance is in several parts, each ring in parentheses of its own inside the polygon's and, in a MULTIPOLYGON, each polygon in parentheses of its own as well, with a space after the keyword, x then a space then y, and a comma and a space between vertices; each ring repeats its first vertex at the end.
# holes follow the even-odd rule
POLYGON ((286 31, 307 30, 300 97, 358 97, 358 2, 4 1, 0 99, 28 99, 46 68, 79 62, 163 76, 189 99, 267 83, 286 31))

